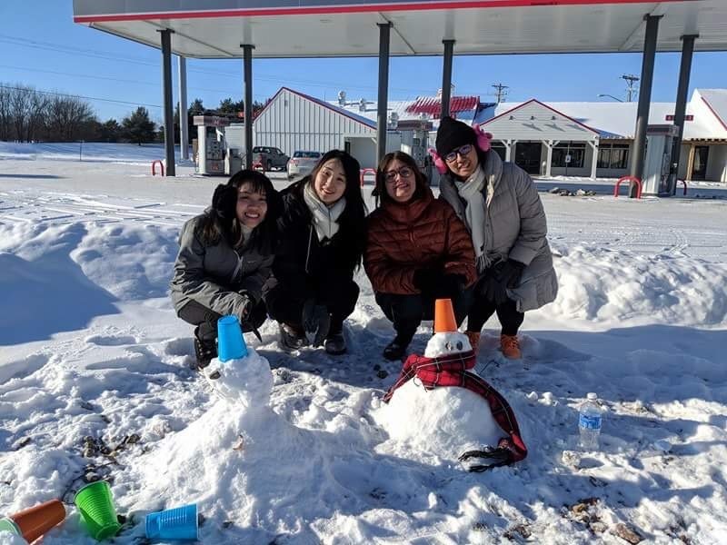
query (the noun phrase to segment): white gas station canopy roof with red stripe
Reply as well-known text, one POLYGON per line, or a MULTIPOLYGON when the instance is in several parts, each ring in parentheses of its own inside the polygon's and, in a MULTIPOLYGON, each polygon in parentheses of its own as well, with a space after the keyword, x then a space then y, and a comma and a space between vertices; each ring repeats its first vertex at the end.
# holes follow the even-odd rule
POLYGON ((379 54, 377 24, 392 23, 390 54, 641 52, 644 15, 662 15, 657 51, 727 50, 727 0, 74 0, 75 23, 193 58, 379 54))

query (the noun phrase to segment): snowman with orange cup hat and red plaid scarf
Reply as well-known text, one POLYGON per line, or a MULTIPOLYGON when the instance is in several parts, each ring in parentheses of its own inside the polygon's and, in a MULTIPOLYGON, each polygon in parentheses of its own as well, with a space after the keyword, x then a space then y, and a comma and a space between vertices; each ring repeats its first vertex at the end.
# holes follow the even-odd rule
POLYGON ((424 355, 406 359, 377 420, 393 441, 459 461, 467 471, 523 460, 527 449, 513 410, 472 371, 474 364, 469 340, 457 331, 452 302, 437 300, 424 355))

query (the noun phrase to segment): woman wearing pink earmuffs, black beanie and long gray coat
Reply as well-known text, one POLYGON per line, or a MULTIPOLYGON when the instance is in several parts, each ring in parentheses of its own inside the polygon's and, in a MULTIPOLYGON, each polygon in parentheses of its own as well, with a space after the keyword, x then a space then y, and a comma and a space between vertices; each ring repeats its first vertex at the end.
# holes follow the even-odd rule
POLYGON ((472 236, 478 281, 466 334, 477 351, 484 322, 497 313, 500 346, 520 359, 524 312, 553 302, 558 279, 546 239, 543 203, 530 176, 490 149, 492 134, 444 117, 431 151, 440 196, 472 236))

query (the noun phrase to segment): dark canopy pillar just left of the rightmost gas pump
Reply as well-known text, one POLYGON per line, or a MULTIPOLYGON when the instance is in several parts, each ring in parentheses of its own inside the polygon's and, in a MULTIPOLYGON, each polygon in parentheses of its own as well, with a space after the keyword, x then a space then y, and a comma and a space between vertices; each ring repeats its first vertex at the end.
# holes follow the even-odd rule
MULTIPOLYGON (((662 15, 644 15, 646 35, 643 40, 641 90, 636 114, 636 130, 633 136, 631 175, 643 177, 643 155, 646 149, 646 125, 649 124, 649 106, 652 100, 653 64, 656 57, 656 38, 659 35, 659 19, 662 15)), ((636 197, 636 183, 629 183, 629 197, 636 197)))

